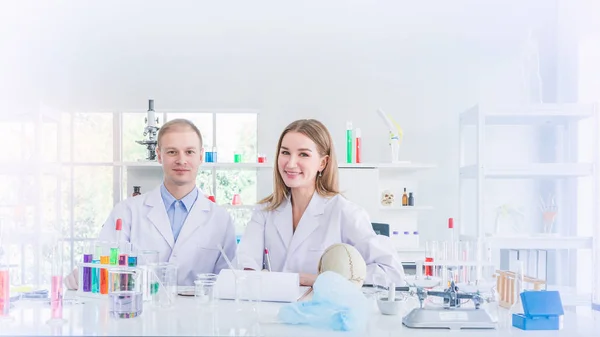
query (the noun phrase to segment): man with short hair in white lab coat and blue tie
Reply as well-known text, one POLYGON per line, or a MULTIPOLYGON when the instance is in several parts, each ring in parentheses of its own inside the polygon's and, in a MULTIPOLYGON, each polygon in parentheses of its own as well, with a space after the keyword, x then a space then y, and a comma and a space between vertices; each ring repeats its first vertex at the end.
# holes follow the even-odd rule
MULTIPOLYGON (((185 119, 165 123, 158 133, 156 149, 164 172, 163 183, 154 190, 117 204, 104 223, 99 240, 116 240, 116 222, 122 220, 121 240, 138 250, 156 250, 160 262, 178 266, 178 285, 193 285, 198 273, 227 268, 217 245, 227 257, 235 256, 233 219, 196 187, 204 151, 198 128, 185 119)), ((65 284, 77 289, 75 270, 65 284)))

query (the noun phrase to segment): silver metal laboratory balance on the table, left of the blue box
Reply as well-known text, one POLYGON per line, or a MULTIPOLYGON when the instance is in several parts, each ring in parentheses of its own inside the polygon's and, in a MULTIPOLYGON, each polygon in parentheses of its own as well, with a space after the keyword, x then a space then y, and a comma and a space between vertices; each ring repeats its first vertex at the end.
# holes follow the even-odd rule
POLYGON ((424 290, 417 288, 419 308, 413 309, 404 316, 402 323, 409 328, 437 329, 495 329, 496 323, 484 308, 481 308, 484 298, 479 293, 459 292, 454 281, 444 290, 424 290), (427 296, 441 297, 443 305, 423 307, 427 296), (472 302, 472 307, 464 307, 472 302))

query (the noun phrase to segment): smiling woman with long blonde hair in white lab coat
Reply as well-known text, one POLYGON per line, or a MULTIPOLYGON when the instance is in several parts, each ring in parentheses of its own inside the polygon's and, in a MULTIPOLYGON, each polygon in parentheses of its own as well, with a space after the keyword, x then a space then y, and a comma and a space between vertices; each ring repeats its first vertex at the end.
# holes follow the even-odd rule
POLYGON ((238 245, 238 267, 300 274, 312 286, 323 251, 335 243, 354 246, 367 263, 366 283, 383 274, 404 284, 400 259, 388 237, 376 235, 369 215, 340 195, 338 163, 327 128, 314 119, 288 125, 275 156, 273 194, 259 202, 238 245))

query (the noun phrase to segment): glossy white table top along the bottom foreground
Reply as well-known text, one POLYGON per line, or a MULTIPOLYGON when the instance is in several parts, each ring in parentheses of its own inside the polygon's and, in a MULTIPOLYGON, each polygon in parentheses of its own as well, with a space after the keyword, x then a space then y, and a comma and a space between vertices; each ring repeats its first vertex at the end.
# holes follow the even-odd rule
MULTIPOLYGON (((567 312, 564 329, 560 331, 521 331, 513 328, 506 317, 499 320, 496 330, 432 330, 409 329, 402 325, 402 316, 384 316, 371 300, 371 319, 367 332, 338 332, 321 330, 309 326, 286 325, 277 322, 279 303, 260 304, 259 324, 249 326, 248 314, 236 315, 235 302, 220 301, 215 310, 201 307, 194 297, 178 296, 172 309, 154 308, 144 303, 144 312, 132 319, 109 317, 108 301, 80 299, 81 304, 66 304, 63 317, 67 320, 62 326, 46 324, 50 317, 48 304, 19 301, 11 310, 9 319, 0 319, 0 335, 196 335, 196 336, 528 336, 528 337, 598 337, 600 319, 591 315, 567 312), (257 332, 258 333, 255 333, 257 332)), ((406 308, 408 311, 410 308, 406 308)), ((501 312, 502 314, 502 312, 501 312)))

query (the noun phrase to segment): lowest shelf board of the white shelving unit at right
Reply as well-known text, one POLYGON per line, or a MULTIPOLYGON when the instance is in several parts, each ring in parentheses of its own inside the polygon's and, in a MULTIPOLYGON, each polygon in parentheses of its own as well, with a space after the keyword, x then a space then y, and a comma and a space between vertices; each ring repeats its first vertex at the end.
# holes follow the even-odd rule
MULTIPOLYGON (((461 235, 461 240, 474 240, 472 236, 461 235)), ((488 236, 485 238, 493 249, 591 249, 593 239, 588 236, 541 236, 513 235, 488 236)))

